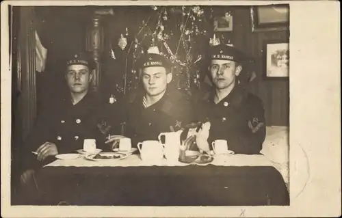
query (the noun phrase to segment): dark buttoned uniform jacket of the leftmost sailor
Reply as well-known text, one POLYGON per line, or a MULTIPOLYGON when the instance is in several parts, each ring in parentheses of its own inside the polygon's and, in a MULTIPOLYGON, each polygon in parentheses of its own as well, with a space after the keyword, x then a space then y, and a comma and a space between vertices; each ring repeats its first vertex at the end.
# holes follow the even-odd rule
MULTIPOLYGON (((82 149, 84 139, 96 139, 96 146, 102 148, 104 137, 97 126, 98 107, 101 106, 98 99, 97 94, 88 92, 76 105, 68 96, 54 100, 54 104, 45 108, 25 140, 24 167, 42 165, 31 151, 36 151, 46 141, 56 144, 59 154, 82 149)), ((48 162, 52 160, 51 157, 47 159, 48 162)))

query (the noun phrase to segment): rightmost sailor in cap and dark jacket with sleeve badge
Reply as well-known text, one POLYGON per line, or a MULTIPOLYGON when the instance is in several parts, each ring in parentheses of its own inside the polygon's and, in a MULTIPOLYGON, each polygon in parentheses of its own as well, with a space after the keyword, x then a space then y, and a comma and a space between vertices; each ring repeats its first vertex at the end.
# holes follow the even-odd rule
POLYGON ((198 119, 209 120, 207 148, 216 139, 228 141, 237 154, 259 154, 265 139, 265 115, 260 98, 240 83, 243 62, 248 57, 233 46, 220 44, 211 49, 209 72, 213 90, 195 100, 198 119))

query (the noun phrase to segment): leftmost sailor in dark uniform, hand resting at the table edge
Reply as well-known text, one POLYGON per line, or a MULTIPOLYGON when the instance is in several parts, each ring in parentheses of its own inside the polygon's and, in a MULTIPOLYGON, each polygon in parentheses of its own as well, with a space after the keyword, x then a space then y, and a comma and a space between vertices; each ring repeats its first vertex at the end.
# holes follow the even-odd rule
POLYGON ((94 67, 94 61, 86 53, 67 60, 68 92, 42 111, 25 140, 23 167, 26 170, 21 176, 22 182, 34 169, 53 161, 55 155, 82 149, 84 139, 96 139, 97 146, 101 147, 104 141, 96 126, 99 98, 90 88, 94 67))

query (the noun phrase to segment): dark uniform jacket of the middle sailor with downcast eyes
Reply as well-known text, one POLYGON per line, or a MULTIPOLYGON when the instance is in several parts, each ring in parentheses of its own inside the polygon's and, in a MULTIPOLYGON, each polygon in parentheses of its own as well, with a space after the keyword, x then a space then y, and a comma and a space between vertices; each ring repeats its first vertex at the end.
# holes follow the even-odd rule
POLYGON ((137 94, 127 102, 127 122, 124 135, 132 139, 132 146, 145 140, 157 140, 159 133, 178 131, 192 122, 191 103, 178 90, 166 90, 154 105, 143 106, 144 94, 137 94))

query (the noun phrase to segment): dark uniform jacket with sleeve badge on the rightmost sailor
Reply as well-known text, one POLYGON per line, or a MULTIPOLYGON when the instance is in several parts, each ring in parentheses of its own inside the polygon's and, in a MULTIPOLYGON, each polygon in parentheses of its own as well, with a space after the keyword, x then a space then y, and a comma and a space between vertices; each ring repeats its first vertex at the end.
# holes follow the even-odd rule
POLYGON ((263 103, 240 85, 214 103, 214 92, 207 92, 195 100, 198 120, 211 122, 209 144, 216 139, 226 139, 228 149, 237 154, 259 154, 265 139, 263 103))

